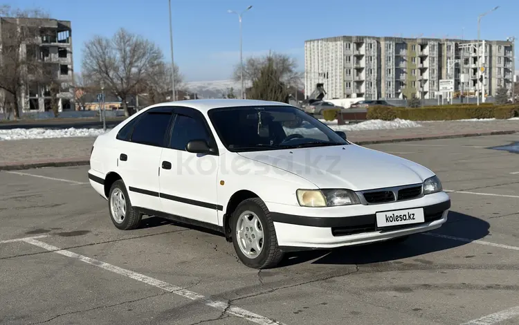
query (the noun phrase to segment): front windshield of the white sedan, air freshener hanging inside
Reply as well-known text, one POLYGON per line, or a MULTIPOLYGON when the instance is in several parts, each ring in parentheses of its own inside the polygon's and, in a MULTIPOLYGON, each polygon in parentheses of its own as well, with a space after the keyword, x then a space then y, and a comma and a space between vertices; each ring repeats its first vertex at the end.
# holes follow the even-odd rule
POLYGON ((293 106, 241 106, 208 112, 230 151, 349 145, 325 124, 293 106))

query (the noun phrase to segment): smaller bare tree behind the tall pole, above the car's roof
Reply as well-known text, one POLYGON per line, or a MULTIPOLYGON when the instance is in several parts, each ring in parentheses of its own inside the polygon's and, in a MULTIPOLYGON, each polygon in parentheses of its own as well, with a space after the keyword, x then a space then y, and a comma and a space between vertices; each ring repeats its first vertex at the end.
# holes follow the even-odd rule
MULTIPOLYGON (((181 75, 178 66, 174 66, 175 75, 175 91, 184 91, 183 75, 181 75)), ((171 64, 158 62, 146 78, 146 91, 148 93, 150 104, 166 102, 172 95, 172 73, 171 64)))

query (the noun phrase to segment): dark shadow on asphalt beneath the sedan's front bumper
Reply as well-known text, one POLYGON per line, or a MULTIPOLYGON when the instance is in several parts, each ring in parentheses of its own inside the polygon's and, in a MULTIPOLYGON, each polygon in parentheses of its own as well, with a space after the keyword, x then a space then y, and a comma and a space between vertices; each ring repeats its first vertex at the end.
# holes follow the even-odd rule
MULTIPOLYGON (((489 234, 490 225, 482 219, 450 211, 448 220, 444 225, 433 230, 432 234, 470 239, 471 241, 481 239, 489 234)), ((329 265, 358 265, 397 261, 410 257, 419 257, 432 252, 449 250, 470 241, 459 241, 437 236, 426 236, 424 234, 413 234, 406 241, 379 242, 367 245, 356 245, 335 250, 312 250, 307 252, 293 252, 287 254, 279 267, 292 266, 299 263, 312 261, 312 264, 329 265), (314 261, 315 260, 315 261, 314 261)))

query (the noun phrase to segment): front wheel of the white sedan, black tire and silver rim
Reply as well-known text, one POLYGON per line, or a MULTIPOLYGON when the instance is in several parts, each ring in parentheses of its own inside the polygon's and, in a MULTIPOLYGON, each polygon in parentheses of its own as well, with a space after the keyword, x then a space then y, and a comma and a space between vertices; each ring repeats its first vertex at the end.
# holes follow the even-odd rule
MULTIPOLYGON (((268 211, 262 199, 248 198, 242 201, 242 203, 239 203, 231 219, 231 231, 235 252, 239 260, 242 261, 245 266, 256 269, 273 268, 283 259, 284 254, 280 250, 279 245, 277 245, 277 236, 274 229, 274 222, 271 219, 271 213, 268 211), (252 219, 252 221, 246 221, 245 219, 252 219), (261 227, 257 227, 258 223, 256 221, 259 221, 261 227), (248 222, 253 223, 254 231, 245 230, 248 228, 246 225, 251 225, 248 222), (238 228, 242 229, 242 236, 240 236, 240 238, 237 234, 238 228), (257 231, 258 228, 262 230, 262 241, 257 241, 257 245, 261 246, 260 253, 257 254, 256 251, 255 255, 254 253, 248 255, 243 251, 247 250, 247 248, 244 247, 244 241, 245 239, 255 240, 255 234, 257 238, 259 238, 258 234, 260 234, 260 232, 257 231), (248 235, 248 237, 245 237, 246 235, 248 235)), ((253 243, 254 242, 251 241, 248 244, 253 245, 253 243)), ((251 252, 253 249, 254 248, 250 248, 248 252, 251 252)))

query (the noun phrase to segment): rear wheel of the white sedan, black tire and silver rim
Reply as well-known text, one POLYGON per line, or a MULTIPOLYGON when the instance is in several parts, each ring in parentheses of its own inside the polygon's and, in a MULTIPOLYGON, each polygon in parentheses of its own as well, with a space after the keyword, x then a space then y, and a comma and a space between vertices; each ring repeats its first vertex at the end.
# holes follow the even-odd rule
POLYGON ((131 205, 125 183, 122 182, 122 180, 116 180, 111 185, 110 193, 108 195, 108 211, 113 225, 120 230, 136 229, 139 227, 140 221, 143 219, 143 214, 140 214, 131 205), (124 212, 122 218, 120 217, 120 214, 118 214, 118 211, 121 210, 124 212))

